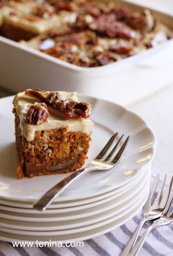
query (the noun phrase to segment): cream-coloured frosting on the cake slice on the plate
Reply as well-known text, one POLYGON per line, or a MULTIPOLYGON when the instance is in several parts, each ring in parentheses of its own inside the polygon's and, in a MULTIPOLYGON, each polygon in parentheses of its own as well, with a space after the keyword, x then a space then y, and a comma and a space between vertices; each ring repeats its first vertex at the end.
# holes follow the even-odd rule
MULTIPOLYGON (((63 100, 67 99, 70 101, 79 101, 76 92, 67 93, 65 91, 59 91, 59 94, 61 95, 61 98, 63 100)), ((67 131, 80 131, 83 133, 87 133, 87 135, 91 135, 93 129, 93 122, 90 119, 64 119, 62 117, 55 116, 52 113, 51 108, 49 107, 48 110, 50 112, 50 116, 48 116, 44 123, 41 123, 39 125, 28 124, 25 121, 27 111, 33 104, 35 104, 35 102, 40 102, 40 100, 35 96, 25 94, 25 91, 22 93, 18 93, 16 96, 14 96, 13 100, 14 106, 16 108, 16 113, 20 118, 20 129, 22 131, 22 135, 25 137, 27 141, 32 141, 34 139, 36 131, 46 131, 50 129, 59 129, 63 127, 67 127, 67 131)))

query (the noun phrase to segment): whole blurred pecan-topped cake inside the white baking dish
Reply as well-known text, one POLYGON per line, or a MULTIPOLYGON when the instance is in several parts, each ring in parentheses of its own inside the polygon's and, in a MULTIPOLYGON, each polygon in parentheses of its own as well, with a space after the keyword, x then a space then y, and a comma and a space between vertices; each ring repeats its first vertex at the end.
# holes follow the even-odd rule
POLYGON ((172 38, 149 9, 116 1, 0 0, 0 35, 86 68, 104 66, 172 38))

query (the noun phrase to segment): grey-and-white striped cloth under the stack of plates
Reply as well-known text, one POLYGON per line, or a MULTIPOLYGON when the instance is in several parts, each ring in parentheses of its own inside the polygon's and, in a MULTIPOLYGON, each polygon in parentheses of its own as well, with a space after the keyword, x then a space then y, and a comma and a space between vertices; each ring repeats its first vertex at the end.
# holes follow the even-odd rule
MULTIPOLYGON (((12 247, 10 243, 0 242, 0 256, 117 256, 127 244, 141 218, 142 210, 119 228, 84 241, 84 247, 12 247)), ((147 227, 148 223, 144 225, 143 230, 147 227)), ((139 255, 173 256, 173 223, 152 230, 139 255)))

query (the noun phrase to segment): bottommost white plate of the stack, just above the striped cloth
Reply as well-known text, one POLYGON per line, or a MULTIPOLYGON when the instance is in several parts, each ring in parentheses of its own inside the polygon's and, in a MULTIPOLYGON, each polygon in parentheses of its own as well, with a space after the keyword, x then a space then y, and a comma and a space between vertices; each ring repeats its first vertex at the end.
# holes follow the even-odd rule
POLYGON ((105 234, 106 232, 109 232, 110 230, 113 230, 114 228, 121 226, 121 224, 124 224, 126 221, 131 219, 136 212, 142 208, 144 203, 146 202, 146 199, 148 197, 148 193, 144 196, 144 198, 140 198, 134 209, 129 211, 129 213, 125 213, 122 217, 119 217, 116 220, 111 221, 108 224, 104 224, 103 226, 99 226, 97 228, 93 228, 91 230, 86 230, 82 232, 75 232, 75 233, 68 233, 64 235, 48 235, 48 236, 27 236, 24 234, 16 234, 12 232, 4 232, 0 230, 0 240, 5 242, 14 242, 14 241, 33 241, 35 243, 36 241, 57 241, 57 242, 76 242, 76 241, 84 241, 90 238, 94 238, 95 236, 99 236, 101 234, 105 234))

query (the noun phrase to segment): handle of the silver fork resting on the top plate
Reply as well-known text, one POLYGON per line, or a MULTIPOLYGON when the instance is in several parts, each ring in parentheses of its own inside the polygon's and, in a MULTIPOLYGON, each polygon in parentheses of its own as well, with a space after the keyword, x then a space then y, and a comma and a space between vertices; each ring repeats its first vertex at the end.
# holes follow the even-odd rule
POLYGON ((54 199, 59 196, 59 194, 63 192, 63 190, 67 188, 67 186, 69 186, 69 184, 78 179, 78 177, 80 177, 84 173, 92 171, 92 169, 93 168, 88 166, 86 168, 75 171, 71 175, 67 176, 65 179, 50 188, 50 190, 48 190, 48 192, 46 192, 39 200, 35 201, 35 203, 33 204, 33 208, 39 211, 44 211, 48 207, 48 205, 50 205, 50 203, 52 203, 52 201, 54 201, 54 199))

